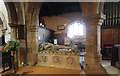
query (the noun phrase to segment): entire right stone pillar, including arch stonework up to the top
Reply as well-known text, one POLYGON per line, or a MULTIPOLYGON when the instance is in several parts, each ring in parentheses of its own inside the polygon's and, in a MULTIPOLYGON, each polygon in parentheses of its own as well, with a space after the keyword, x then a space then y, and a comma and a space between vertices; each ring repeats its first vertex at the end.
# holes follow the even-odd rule
POLYGON ((103 19, 103 3, 81 2, 82 17, 86 26, 85 72, 91 74, 106 73, 101 65, 100 32, 103 19))

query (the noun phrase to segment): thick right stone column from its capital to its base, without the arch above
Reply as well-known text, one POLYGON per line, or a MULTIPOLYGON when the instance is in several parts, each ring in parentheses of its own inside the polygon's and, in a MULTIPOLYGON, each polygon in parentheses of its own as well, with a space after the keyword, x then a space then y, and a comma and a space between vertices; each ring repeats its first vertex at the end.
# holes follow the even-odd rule
POLYGON ((100 54, 100 15, 92 15, 84 18, 86 26, 86 54, 85 54, 85 72, 87 73, 105 73, 101 66, 100 54))

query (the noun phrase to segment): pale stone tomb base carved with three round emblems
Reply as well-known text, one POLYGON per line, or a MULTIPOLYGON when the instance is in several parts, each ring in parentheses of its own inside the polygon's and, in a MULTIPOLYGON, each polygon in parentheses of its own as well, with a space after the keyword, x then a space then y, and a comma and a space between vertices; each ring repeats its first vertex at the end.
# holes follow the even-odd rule
POLYGON ((38 53, 37 66, 81 70, 79 55, 38 53))

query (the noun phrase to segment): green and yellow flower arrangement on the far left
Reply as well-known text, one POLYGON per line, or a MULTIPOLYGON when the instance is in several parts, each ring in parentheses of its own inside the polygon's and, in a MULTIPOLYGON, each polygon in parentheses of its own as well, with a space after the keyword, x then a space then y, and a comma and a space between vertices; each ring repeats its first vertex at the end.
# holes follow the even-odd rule
POLYGON ((3 52, 16 51, 19 46, 21 46, 21 43, 18 40, 12 38, 6 43, 3 52))

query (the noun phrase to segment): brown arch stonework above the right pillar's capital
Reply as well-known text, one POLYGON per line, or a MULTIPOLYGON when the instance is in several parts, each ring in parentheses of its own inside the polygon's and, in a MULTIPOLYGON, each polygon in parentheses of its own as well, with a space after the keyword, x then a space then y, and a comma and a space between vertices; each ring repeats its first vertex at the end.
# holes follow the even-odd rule
POLYGON ((101 14, 103 12, 104 2, 81 2, 80 5, 82 7, 82 16, 87 17, 94 14, 101 14))

